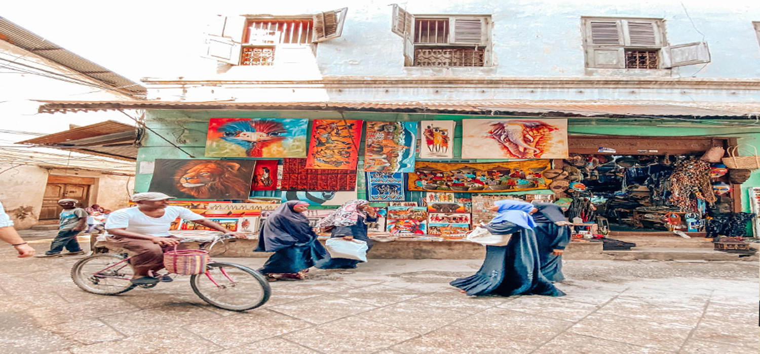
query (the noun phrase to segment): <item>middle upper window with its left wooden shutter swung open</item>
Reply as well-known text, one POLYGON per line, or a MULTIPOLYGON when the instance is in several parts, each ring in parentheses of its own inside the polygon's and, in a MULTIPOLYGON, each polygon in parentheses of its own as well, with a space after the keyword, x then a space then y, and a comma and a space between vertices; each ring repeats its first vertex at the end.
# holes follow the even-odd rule
POLYGON ((488 16, 409 14, 394 5, 391 31, 404 38, 404 65, 484 67, 490 65, 488 16))

